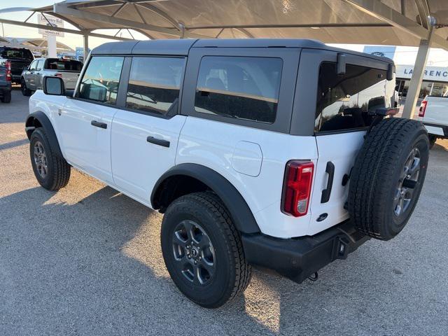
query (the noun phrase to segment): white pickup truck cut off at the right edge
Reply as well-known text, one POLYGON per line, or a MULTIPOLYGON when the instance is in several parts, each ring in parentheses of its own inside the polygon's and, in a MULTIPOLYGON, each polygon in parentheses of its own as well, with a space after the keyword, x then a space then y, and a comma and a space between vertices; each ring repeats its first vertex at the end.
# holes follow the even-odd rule
POLYGON ((421 102, 419 120, 428 130, 430 148, 437 139, 448 139, 448 91, 443 97, 426 96, 421 102))

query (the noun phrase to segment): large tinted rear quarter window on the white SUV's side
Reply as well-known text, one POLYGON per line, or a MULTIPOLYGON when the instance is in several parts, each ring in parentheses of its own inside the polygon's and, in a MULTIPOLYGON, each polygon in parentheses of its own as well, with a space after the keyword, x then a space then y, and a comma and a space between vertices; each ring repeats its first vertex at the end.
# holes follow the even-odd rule
POLYGON ((203 57, 195 97, 197 112, 274 123, 282 60, 203 57))

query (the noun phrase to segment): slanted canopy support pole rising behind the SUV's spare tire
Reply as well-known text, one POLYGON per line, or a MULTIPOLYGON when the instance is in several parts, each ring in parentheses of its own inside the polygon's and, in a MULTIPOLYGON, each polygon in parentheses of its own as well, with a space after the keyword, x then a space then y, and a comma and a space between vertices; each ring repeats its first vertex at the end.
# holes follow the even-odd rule
POLYGON ((405 106, 403 107, 402 118, 412 119, 414 116, 415 106, 419 99, 421 81, 425 73, 426 61, 428 60, 429 47, 433 36, 433 28, 430 28, 428 39, 421 39, 419 51, 415 60, 414 69, 412 70, 411 83, 407 90, 405 106))

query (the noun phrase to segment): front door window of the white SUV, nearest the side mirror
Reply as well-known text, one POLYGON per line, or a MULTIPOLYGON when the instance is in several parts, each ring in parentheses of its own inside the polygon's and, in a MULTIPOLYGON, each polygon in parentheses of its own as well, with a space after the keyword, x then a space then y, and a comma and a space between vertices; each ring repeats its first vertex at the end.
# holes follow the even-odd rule
POLYGON ((115 105, 123 59, 124 57, 92 57, 81 80, 78 97, 115 105))

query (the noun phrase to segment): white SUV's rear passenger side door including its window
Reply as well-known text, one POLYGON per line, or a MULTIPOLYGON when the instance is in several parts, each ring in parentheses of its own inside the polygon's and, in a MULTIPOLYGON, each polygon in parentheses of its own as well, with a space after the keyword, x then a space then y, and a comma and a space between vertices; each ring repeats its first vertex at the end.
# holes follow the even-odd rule
POLYGON ((178 114, 186 58, 127 57, 123 102, 113 118, 113 181, 120 190, 150 205, 156 181, 175 165, 186 116, 178 114))

